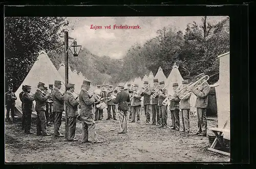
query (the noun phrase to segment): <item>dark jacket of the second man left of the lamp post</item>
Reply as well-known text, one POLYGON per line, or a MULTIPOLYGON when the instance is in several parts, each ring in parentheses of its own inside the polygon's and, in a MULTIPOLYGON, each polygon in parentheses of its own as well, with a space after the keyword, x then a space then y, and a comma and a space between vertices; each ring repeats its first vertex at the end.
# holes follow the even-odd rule
POLYGON ((34 95, 35 99, 35 111, 45 110, 46 111, 46 100, 48 99, 41 90, 37 89, 34 95))

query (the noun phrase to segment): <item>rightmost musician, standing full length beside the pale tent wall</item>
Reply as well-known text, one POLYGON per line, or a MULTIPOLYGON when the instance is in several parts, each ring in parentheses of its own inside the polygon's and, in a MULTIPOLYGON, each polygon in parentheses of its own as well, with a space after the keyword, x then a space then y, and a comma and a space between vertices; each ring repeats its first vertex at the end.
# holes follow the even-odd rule
MULTIPOLYGON (((198 79, 203 76, 204 73, 198 75, 198 79)), ((198 129, 196 134, 200 136, 206 136, 207 133, 206 108, 209 91, 210 86, 207 81, 203 82, 198 90, 191 89, 191 92, 197 96, 195 107, 197 107, 198 129)))

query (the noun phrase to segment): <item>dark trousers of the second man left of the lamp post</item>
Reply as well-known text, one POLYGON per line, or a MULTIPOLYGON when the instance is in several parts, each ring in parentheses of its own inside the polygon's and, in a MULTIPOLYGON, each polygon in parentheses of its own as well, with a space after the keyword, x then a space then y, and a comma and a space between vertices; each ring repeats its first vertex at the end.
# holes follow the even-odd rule
POLYGON ((36 134, 37 135, 47 134, 45 110, 37 111, 36 134))

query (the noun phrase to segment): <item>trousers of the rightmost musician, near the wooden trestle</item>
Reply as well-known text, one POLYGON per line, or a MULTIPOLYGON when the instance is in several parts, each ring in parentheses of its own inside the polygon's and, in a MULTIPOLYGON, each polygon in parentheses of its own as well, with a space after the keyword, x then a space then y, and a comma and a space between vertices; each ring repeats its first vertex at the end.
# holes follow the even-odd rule
POLYGON ((197 133, 207 133, 206 108, 197 108, 197 133))

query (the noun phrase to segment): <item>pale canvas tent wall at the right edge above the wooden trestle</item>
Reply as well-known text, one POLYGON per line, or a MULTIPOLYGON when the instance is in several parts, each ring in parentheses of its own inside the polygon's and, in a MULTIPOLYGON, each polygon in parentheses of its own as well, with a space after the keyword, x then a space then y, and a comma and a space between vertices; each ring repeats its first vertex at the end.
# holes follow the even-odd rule
MULTIPOLYGON (((216 98, 218 109, 218 127, 222 128, 227 121, 225 129, 230 129, 230 77, 229 77, 229 52, 218 56, 220 59, 219 86, 216 85, 216 98)), ((229 133, 223 133, 229 135, 229 133)))

